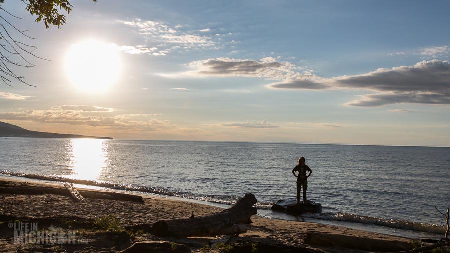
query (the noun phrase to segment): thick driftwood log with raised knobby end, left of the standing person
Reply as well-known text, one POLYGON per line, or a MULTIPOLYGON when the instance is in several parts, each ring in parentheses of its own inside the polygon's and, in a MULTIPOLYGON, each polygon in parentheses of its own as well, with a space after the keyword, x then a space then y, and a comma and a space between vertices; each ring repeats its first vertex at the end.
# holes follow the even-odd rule
POLYGON ((156 235, 175 237, 213 234, 221 228, 246 223, 252 215, 258 213, 256 207, 253 207, 256 202, 256 197, 248 193, 223 211, 198 218, 160 220, 153 224, 152 231, 156 235))

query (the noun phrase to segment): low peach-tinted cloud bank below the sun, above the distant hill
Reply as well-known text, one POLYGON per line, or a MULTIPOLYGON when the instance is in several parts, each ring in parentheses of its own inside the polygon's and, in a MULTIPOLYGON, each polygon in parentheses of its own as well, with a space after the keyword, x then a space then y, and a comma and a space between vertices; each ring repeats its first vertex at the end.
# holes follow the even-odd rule
MULTIPOLYGON (((68 125, 85 125, 110 129, 146 130, 154 131, 170 125, 170 120, 136 120, 135 117, 151 116, 152 114, 122 114, 116 116, 86 116, 83 115, 86 105, 80 106, 53 106, 50 110, 22 110, 20 112, 0 112, 0 119, 23 120, 41 123, 59 123, 68 125), (62 109, 70 108, 69 110, 62 109), (74 110, 71 107, 76 107, 74 110), (79 110, 83 108, 83 111, 79 110)), ((96 107, 96 106, 88 106, 96 107)), ((101 107, 97 107, 101 108, 101 107)), ((92 112, 90 110, 89 112, 92 112)), ((109 112, 109 111, 107 111, 109 112)), ((161 115, 161 114, 153 114, 161 115)))

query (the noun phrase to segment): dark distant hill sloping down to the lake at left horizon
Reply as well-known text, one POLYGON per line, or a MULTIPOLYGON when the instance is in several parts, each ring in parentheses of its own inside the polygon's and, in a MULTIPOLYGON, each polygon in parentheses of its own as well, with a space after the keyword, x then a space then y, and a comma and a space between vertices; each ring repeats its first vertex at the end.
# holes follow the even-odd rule
POLYGON ((36 132, 23 129, 22 127, 0 122, 0 137, 22 137, 22 138, 57 138, 57 139, 113 139, 110 137, 83 136, 77 134, 61 134, 51 132, 36 132))

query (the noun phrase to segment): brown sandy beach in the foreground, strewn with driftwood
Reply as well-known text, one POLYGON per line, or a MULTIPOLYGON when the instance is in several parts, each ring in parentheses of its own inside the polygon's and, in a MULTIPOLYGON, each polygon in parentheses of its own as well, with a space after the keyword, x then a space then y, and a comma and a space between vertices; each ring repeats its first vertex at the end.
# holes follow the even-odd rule
MULTIPOLYGON (((10 179, 0 179, 2 185, 31 185, 36 187, 64 188, 61 185, 41 184, 10 179)), ((135 242, 168 241, 187 245, 192 252, 220 252, 218 249, 204 248, 208 242, 217 236, 174 238, 158 237, 149 233, 135 234, 130 241, 118 242, 117 236, 108 234, 92 226, 99 218, 112 214, 120 221, 121 227, 139 224, 153 224, 162 219, 188 218, 219 212, 223 209, 178 200, 167 200, 159 197, 144 197, 143 202, 131 202, 106 199, 87 199, 87 202, 77 203, 69 196, 55 194, 5 194, 0 193, 0 252, 120 252, 135 242), (61 227, 75 231, 81 241, 88 239, 85 244, 36 244, 16 243, 14 240, 14 223, 37 223, 37 230, 61 227), (85 224, 82 222, 86 222, 85 224), (83 227, 87 226, 87 227, 83 227), (109 236, 109 237, 108 237, 109 236), (114 237, 115 236, 115 237, 114 237), (115 240, 114 240, 115 238, 115 240), (204 249, 201 249, 201 248, 204 249)), ((229 243, 249 241, 254 243, 269 243, 292 246, 295 248, 325 251, 325 252, 363 252, 361 250, 343 248, 339 246, 315 246, 304 243, 303 236, 307 232, 346 235, 361 238, 372 238, 389 241, 412 243, 413 238, 395 237, 377 233, 370 233, 349 228, 324 224, 281 221, 262 218, 257 215, 251 217, 252 224, 248 224, 247 233, 239 234, 229 243)), ((15 224, 19 225, 19 224, 15 224)), ((256 245, 256 244, 255 244, 256 245)))

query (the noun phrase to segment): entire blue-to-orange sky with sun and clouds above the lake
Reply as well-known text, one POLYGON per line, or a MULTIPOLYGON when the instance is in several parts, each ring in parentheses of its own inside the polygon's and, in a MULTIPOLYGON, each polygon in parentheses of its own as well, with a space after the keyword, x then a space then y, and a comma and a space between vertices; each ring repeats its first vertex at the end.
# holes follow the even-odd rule
POLYGON ((0 82, 0 121, 114 139, 450 146, 449 1, 70 3, 48 29, 23 2, 1 5, 39 58, 10 66, 33 86, 0 82))

